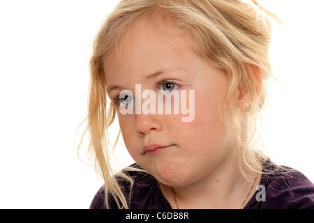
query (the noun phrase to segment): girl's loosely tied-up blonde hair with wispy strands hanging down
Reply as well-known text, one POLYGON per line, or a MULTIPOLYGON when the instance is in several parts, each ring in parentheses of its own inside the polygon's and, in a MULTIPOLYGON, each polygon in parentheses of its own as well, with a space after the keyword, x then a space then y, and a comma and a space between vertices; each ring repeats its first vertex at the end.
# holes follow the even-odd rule
MULTIPOLYGON (((134 22, 144 17, 151 18, 154 13, 169 17, 173 24, 188 31, 200 56, 225 72, 228 87, 223 116, 228 119, 228 123, 232 123, 234 136, 241 148, 241 169, 244 173, 245 169, 260 171, 257 163, 267 157, 253 150, 251 142, 254 131, 248 130, 254 130, 256 126, 256 114, 264 104, 265 82, 271 75, 268 59, 271 28, 266 16, 261 14, 261 7, 256 1, 253 2, 255 4, 240 0, 122 0, 107 17, 94 40, 90 60, 87 126, 89 151, 105 182, 107 208, 108 194, 111 194, 119 208, 128 208, 128 199, 117 179, 112 177, 114 173, 110 165, 107 128, 114 121, 116 111, 111 103, 107 103, 106 65, 103 61, 119 45, 134 22), (237 95, 237 91, 248 95, 250 112, 241 112, 235 106, 234 95, 237 95)), ((266 13, 271 15, 268 11, 266 13)), ((124 171, 116 176, 127 180, 132 187, 133 180, 124 171)))

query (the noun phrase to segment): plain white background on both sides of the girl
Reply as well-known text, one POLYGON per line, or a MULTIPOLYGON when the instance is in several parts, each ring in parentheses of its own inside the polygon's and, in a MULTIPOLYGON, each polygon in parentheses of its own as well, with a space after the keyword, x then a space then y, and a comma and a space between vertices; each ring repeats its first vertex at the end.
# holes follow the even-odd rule
MULTIPOLYGON (((89 208, 102 183, 78 159, 75 132, 87 115, 91 43, 116 3, 0 1, 0 208, 89 208)), ((260 3, 284 22, 271 20, 270 58, 287 90, 271 80, 260 144, 314 181, 314 1, 260 3)), ((122 141, 117 153, 132 162, 122 141)))

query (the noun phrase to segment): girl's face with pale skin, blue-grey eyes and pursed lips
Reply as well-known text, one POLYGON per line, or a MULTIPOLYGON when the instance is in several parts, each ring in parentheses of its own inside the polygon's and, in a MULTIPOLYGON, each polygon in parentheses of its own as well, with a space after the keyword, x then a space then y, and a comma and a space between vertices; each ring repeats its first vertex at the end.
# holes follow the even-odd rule
MULTIPOLYGON (((135 107, 133 98, 116 100, 124 143, 135 162, 160 183, 179 187, 212 178, 234 162, 234 143, 220 117, 226 89, 223 72, 191 50, 192 42, 184 32, 172 28, 169 24, 156 29, 149 22, 137 22, 121 41, 119 55, 114 49, 104 62, 108 94, 113 101, 126 89, 132 91, 135 101, 139 100, 135 84, 140 84, 142 92, 150 89, 156 95, 158 90, 163 94, 186 90, 187 95, 194 90, 194 108, 190 99, 186 102, 195 112, 190 122, 182 121, 187 115, 181 112, 121 114, 119 104, 123 101, 135 107), (149 77, 151 74, 155 75, 149 77), (154 144, 165 148, 146 151, 154 150, 154 144)), ((142 98, 142 103, 145 100, 142 98)))

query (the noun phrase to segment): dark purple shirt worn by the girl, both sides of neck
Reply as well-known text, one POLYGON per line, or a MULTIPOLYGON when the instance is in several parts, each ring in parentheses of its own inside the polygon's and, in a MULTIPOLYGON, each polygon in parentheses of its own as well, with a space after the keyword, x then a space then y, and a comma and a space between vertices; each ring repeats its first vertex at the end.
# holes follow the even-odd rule
MULTIPOLYGON (((265 162, 266 169, 274 169, 274 164, 265 162)), ((133 167, 138 167, 133 164, 133 167)), ((156 179, 141 171, 128 172, 134 179, 130 209, 171 209, 170 203, 165 199, 156 183, 156 179)), ((130 189, 126 182, 119 180, 124 194, 128 195, 130 189)), ((104 208, 103 187, 98 190, 91 209, 104 208)), ((114 199, 110 199, 110 208, 116 209, 114 199)), ((275 174, 262 174, 260 185, 244 209, 314 209, 314 185, 301 172, 285 167, 275 174)))

